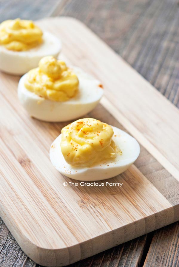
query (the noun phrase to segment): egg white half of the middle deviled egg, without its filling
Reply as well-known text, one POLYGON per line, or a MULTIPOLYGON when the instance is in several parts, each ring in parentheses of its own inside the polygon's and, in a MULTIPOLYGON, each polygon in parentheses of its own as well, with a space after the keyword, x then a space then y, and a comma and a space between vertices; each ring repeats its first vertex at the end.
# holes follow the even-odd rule
POLYGON ((79 80, 79 92, 65 101, 51 101, 28 91, 24 86, 26 75, 18 84, 18 98, 30 116, 48 122, 64 122, 83 117, 92 111, 103 95, 100 82, 83 70, 72 68, 79 80))

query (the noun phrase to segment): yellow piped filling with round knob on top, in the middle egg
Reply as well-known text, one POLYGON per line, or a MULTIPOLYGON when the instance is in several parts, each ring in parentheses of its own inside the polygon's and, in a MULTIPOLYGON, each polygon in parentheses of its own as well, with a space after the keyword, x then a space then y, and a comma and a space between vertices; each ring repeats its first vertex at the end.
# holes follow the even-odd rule
POLYGON ((38 68, 27 73, 24 86, 40 97, 52 101, 67 101, 78 92, 78 77, 64 61, 47 56, 39 61, 38 68))

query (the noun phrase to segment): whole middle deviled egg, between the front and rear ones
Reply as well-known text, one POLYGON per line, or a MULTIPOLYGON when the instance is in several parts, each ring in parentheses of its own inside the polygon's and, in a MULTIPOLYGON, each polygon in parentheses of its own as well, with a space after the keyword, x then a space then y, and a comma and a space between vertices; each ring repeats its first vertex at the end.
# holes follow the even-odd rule
POLYGON ((90 112, 103 95, 101 83, 77 67, 69 68, 52 56, 21 77, 18 97, 30 116, 63 122, 90 112))

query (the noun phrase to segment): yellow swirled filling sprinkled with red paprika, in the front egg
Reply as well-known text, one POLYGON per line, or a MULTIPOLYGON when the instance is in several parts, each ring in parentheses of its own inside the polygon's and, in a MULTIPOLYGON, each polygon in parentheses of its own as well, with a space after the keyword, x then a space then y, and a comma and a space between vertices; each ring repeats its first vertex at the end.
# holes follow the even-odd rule
POLYGON ((61 133, 61 152, 66 162, 74 167, 90 167, 116 157, 113 129, 97 119, 78 119, 61 133))

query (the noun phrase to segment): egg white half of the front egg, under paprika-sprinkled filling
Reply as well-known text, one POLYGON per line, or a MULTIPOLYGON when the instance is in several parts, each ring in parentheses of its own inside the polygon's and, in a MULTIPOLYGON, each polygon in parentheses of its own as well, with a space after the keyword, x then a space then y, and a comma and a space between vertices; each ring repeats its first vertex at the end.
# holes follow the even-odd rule
POLYGON ((140 153, 140 146, 136 139, 126 132, 112 126, 114 135, 112 139, 118 150, 113 159, 105 160, 92 165, 91 167, 72 167, 69 165, 61 153, 61 134, 54 140, 50 148, 50 160, 53 166, 63 175, 80 181, 98 181, 123 173, 129 166, 135 162, 140 153))

